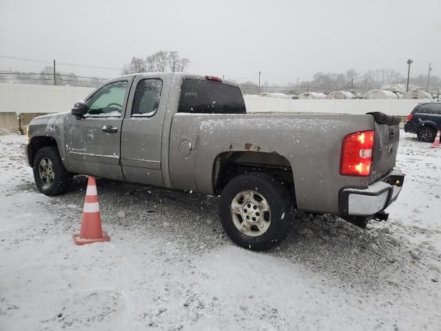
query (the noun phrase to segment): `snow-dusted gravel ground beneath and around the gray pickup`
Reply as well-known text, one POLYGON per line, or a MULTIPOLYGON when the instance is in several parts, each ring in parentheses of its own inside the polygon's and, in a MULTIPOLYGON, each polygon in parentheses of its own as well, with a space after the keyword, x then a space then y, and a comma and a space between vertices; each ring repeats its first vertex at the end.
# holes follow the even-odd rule
POLYGON ((0 330, 440 330, 441 149, 402 133, 389 221, 299 213, 250 252, 215 198, 98 180, 110 243, 77 246, 85 178, 39 194, 0 137, 0 330))

